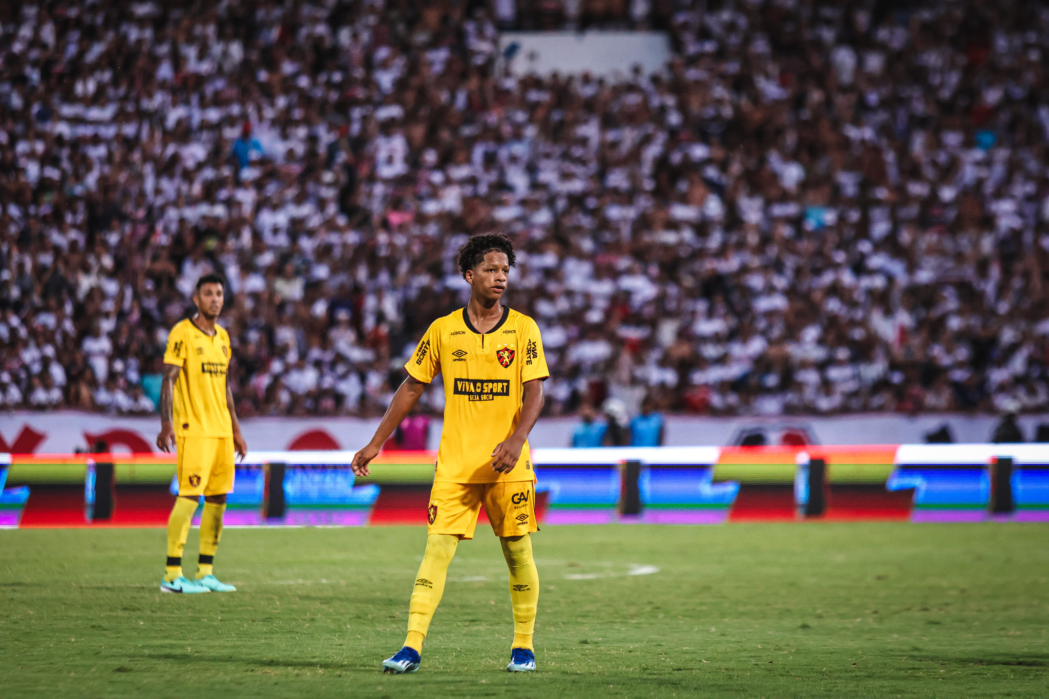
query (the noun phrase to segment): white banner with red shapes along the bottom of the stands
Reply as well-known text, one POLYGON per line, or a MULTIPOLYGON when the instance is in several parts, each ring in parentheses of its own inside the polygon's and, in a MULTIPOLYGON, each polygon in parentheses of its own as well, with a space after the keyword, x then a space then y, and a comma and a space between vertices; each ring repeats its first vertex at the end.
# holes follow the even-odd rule
MULTIPOLYGON (((868 414, 841 417, 720 418, 675 415, 667 417, 666 443, 670 446, 737 444, 759 433, 766 444, 900 444, 921 443, 925 435, 943 427, 955 441, 990 441, 1000 418, 973 415, 868 414)), ((1019 420, 1024 439, 1034 439, 1037 425, 1049 415, 1026 415, 1019 420)), ((350 417, 257 417, 241 420, 252 450, 348 450, 371 438, 379 419, 350 417)), ((430 428, 429 447, 441 439, 441 420, 430 428)), ((578 418, 539 420, 531 443, 537 447, 568 446, 578 418)), ((102 439, 115 452, 155 452, 156 417, 116 417, 93 413, 0 413, 0 453, 70 453, 102 439)))

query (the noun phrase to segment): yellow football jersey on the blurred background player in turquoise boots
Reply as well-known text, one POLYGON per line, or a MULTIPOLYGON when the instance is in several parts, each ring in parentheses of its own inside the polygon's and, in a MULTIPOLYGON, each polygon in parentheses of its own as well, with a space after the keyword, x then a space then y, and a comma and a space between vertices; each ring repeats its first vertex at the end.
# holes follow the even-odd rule
POLYGON ((181 367, 175 381, 173 417, 176 437, 232 437, 226 405, 230 335, 215 326, 215 336, 187 319, 171 328, 164 364, 181 367))

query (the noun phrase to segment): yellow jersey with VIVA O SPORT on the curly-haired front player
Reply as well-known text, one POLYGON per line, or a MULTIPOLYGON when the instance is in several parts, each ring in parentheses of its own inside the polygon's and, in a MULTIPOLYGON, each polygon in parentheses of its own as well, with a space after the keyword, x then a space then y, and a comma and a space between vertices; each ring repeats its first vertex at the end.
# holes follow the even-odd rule
POLYGON ((463 308, 430 325, 405 369, 426 384, 444 375, 445 427, 434 480, 535 480, 527 441, 510 473, 492 469, 492 450, 520 420, 524 383, 550 376, 535 321, 504 306, 502 319, 481 334, 463 308))

